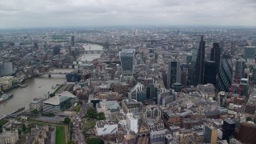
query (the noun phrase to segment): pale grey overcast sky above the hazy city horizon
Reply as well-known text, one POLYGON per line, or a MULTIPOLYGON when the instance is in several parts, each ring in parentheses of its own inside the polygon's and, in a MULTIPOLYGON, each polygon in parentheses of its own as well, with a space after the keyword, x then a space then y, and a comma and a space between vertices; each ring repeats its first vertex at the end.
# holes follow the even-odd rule
POLYGON ((256 0, 0 0, 0 28, 256 26, 256 0))

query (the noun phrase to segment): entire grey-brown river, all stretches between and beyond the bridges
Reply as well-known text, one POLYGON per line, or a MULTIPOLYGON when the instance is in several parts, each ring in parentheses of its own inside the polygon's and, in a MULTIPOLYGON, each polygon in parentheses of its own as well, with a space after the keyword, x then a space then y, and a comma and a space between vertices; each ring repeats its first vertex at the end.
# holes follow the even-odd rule
MULTIPOLYGON (((102 50, 102 46, 99 45, 90 45, 84 44, 83 47, 85 50, 102 50)), ((100 58, 101 54, 83 54, 80 58, 80 61, 92 61, 95 58, 100 58)), ((70 73, 74 69, 54 69, 54 73, 70 73)), ((45 98, 45 94, 48 91, 53 92, 54 89, 51 89, 51 86, 56 84, 62 84, 66 82, 64 74, 52 74, 51 78, 48 78, 48 75, 42 75, 40 77, 31 78, 26 80, 26 88, 14 88, 13 90, 8 91, 7 93, 14 94, 13 98, 6 100, 6 102, 0 103, 0 116, 2 114, 10 114, 14 110, 18 110, 22 106, 25 106, 26 109, 29 109, 30 102, 34 98, 45 98)))

